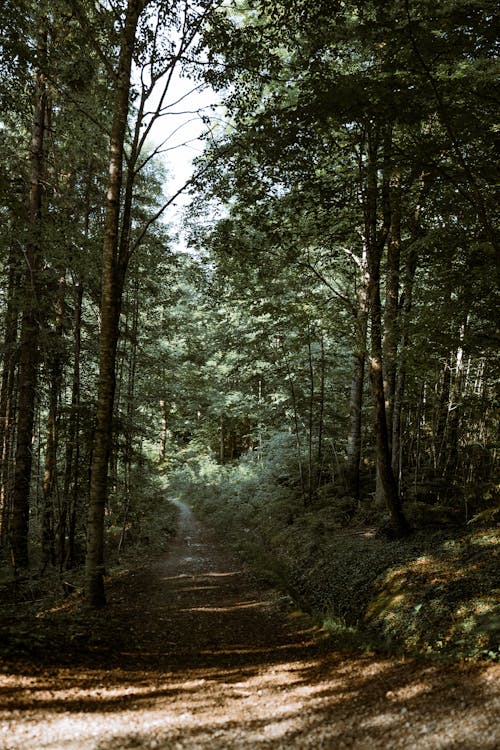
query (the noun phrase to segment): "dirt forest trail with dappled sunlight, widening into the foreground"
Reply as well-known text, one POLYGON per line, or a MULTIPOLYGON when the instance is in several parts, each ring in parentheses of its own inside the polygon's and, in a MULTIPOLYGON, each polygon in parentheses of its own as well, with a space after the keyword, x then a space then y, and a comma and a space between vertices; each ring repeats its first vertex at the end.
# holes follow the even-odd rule
POLYGON ((499 746, 498 665, 332 652, 179 507, 168 554, 110 586, 69 662, 3 665, 2 750, 499 746))

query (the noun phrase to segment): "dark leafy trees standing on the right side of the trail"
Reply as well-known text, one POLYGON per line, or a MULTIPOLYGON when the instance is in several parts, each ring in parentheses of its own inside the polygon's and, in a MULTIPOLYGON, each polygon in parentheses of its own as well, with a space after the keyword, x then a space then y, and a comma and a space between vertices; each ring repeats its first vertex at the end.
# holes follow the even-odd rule
MULTIPOLYGON (((231 127, 212 147, 223 144, 228 156, 207 177, 205 194, 225 203, 240 229, 224 247, 213 239, 208 245, 261 274, 277 273, 288 288, 291 274, 301 274, 304 291, 306 276, 321 280, 324 295, 352 315, 342 481, 359 494, 368 452, 377 465, 377 497, 399 534, 407 530, 402 496, 425 495, 443 474, 449 480, 445 464, 454 467, 458 495, 474 491, 465 469, 472 446, 457 424, 465 428, 466 300, 475 300, 494 330, 494 287, 487 301, 464 288, 472 277, 481 286, 478 253, 483 273, 494 278, 498 252, 489 163, 494 97, 487 83, 494 74, 493 14, 492 4, 479 9, 462 0, 439 9, 406 0, 286 8, 249 2, 225 9, 210 31, 206 75, 221 91, 231 127), (243 249, 239 235, 247 238, 243 249), (279 270, 270 254, 282 258, 279 270), (350 278, 346 262, 356 271, 350 278), (451 359, 433 344, 450 336, 451 359), (372 427, 362 401, 365 361, 372 427), (447 373, 442 383, 438 372, 447 373), (440 398, 444 411, 429 422, 440 398), (431 448, 436 442, 440 449, 431 448)), ((317 309, 316 316, 322 317, 317 309)), ((302 326, 303 342, 308 330, 302 326)), ((483 371, 487 363, 493 395, 495 348, 476 354, 469 350, 468 366, 483 371)), ((477 412, 475 419, 483 417, 477 412)), ((307 429, 303 423, 302 433, 307 429)), ((488 452, 493 434, 486 442, 488 452)))

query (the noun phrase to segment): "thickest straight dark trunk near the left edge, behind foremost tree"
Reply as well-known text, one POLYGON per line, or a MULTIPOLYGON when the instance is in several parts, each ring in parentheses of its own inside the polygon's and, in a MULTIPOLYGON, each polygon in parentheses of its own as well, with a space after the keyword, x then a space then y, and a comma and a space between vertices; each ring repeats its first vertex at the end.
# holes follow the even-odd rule
POLYGON ((45 183, 45 128, 47 89, 43 62, 47 57, 47 18, 40 11, 37 52, 40 67, 36 75, 33 129, 31 137, 29 224, 30 240, 25 253, 25 287, 19 347, 19 389, 17 400, 17 445, 10 524, 11 555, 14 568, 28 565, 28 519, 32 467, 32 441, 42 325, 41 295, 41 221, 45 183))

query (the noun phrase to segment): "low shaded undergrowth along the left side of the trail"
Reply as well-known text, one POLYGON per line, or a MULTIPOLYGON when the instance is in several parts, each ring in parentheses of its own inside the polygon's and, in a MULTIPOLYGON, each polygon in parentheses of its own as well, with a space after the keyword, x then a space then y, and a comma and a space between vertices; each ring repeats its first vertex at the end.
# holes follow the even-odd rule
MULTIPOLYGON (((126 514, 117 512, 119 498, 112 498, 113 504, 105 530, 106 587, 164 553, 179 515, 166 496, 164 478, 153 473, 136 486, 126 514)), ((84 606, 83 587, 83 557, 69 570, 48 565, 42 571, 34 545, 30 568, 22 575, 0 567, 0 660, 43 661, 45 655, 59 654, 71 661, 80 644, 82 649, 92 645, 102 612, 84 606)))

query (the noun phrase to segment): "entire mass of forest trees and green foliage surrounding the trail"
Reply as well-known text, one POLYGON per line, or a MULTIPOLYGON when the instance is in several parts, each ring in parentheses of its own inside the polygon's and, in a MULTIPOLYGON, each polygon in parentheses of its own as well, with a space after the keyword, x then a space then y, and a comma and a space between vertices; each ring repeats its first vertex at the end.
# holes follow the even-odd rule
MULTIPOLYGON (((295 552, 305 579, 324 577, 339 529, 379 530, 382 575, 412 544, 418 558, 423 530, 446 546, 495 525, 495 14, 490 0, 3 3, 7 578, 85 567, 104 604, 106 550, 150 538, 159 468, 222 508, 240 547, 264 534, 247 551, 275 546, 278 577, 295 552), (214 97, 195 113, 182 239, 165 162, 168 118, 190 106, 178 70, 214 97)), ((344 592, 356 570, 363 583, 349 539, 344 592)), ((489 572, 481 586, 493 611, 489 572)))

